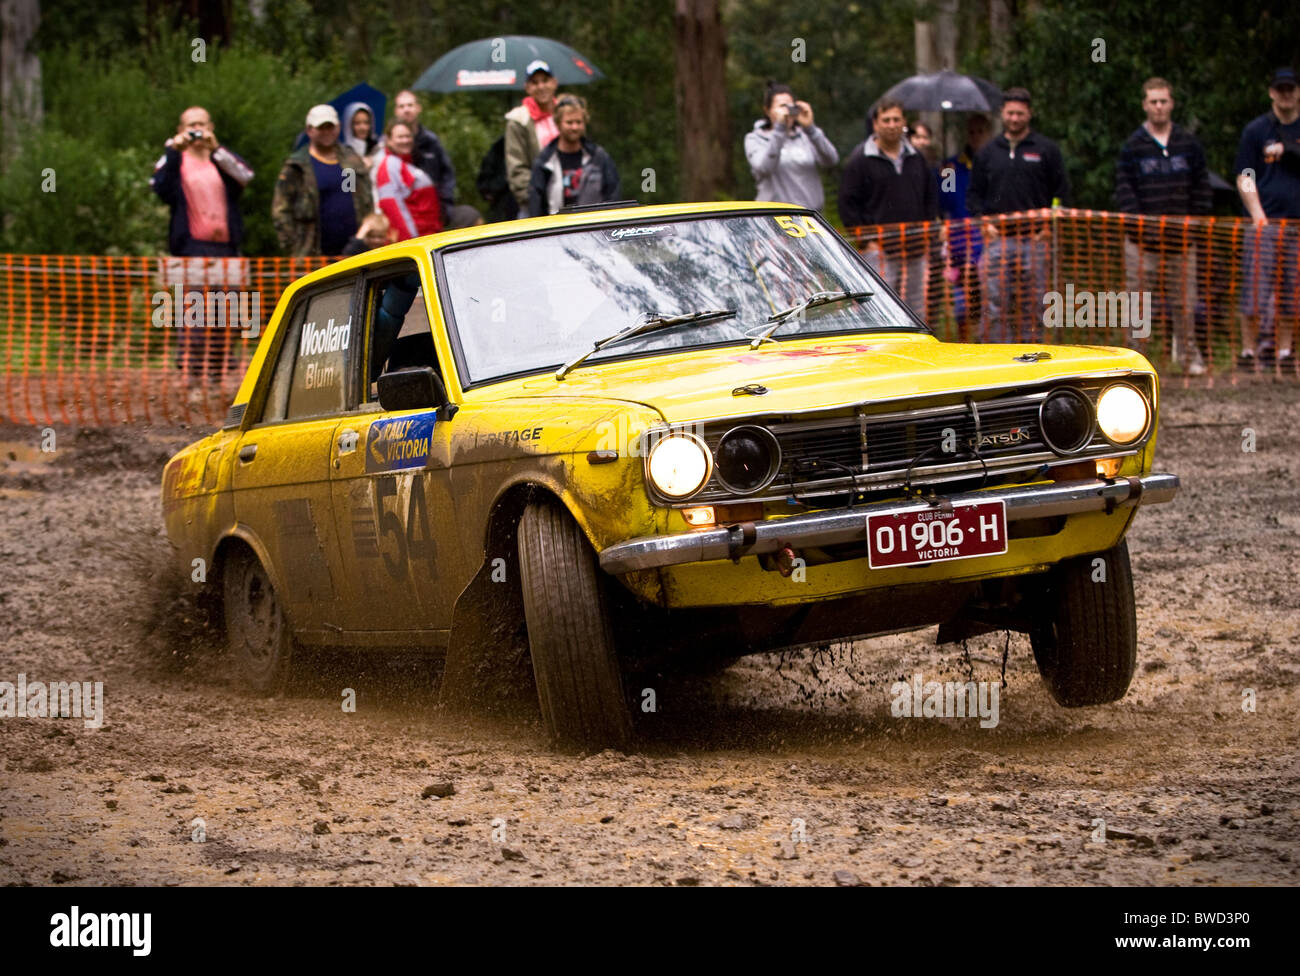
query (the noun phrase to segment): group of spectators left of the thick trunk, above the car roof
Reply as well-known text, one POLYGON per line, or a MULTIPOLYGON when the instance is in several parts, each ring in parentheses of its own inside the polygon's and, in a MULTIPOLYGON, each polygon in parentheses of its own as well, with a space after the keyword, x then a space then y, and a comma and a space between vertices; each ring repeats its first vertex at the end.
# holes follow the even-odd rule
MULTIPOLYGON (((480 168, 477 186, 489 218, 542 216, 616 199, 619 172, 586 133, 586 101, 558 96, 546 61, 533 61, 525 74, 525 96, 506 113, 502 138, 480 168)), ((456 168, 437 133, 421 123, 421 110, 416 92, 399 91, 382 134, 364 101, 346 105, 342 114, 330 104, 307 110, 306 140, 281 166, 270 205, 285 253, 344 257, 484 222, 476 208, 456 203, 456 168)), ((172 209, 170 252, 238 255, 239 198, 252 178, 248 165, 217 143, 208 112, 186 109, 152 178, 172 209)))

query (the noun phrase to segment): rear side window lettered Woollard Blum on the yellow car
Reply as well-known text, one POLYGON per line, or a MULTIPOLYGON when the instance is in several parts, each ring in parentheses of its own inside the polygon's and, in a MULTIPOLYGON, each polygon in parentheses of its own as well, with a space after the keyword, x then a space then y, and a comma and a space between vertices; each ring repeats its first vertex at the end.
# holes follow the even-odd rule
POLYGON ((285 337, 276 379, 286 359, 291 359, 286 420, 347 409, 347 370, 358 344, 352 329, 354 286, 355 281, 350 279, 308 296, 302 324, 285 337))

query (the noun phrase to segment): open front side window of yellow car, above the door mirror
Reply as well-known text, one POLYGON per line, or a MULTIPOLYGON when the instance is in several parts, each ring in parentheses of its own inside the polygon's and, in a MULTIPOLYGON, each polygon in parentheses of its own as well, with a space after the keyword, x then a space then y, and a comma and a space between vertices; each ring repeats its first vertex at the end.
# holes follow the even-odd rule
POLYGON ((429 307, 415 261, 402 261, 372 278, 365 289, 369 326, 370 400, 378 399, 381 373, 404 366, 433 366, 441 376, 429 329, 429 307))

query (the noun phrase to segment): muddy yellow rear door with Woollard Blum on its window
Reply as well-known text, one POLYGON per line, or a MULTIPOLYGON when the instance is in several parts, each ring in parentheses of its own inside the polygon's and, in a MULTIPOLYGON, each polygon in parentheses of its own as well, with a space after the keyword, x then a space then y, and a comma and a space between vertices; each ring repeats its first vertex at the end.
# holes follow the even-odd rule
POLYGON ((358 287, 352 274, 295 298, 261 417, 235 452, 235 519, 261 542, 289 619, 307 638, 341 629, 330 463, 334 430, 356 399, 348 377, 358 287))

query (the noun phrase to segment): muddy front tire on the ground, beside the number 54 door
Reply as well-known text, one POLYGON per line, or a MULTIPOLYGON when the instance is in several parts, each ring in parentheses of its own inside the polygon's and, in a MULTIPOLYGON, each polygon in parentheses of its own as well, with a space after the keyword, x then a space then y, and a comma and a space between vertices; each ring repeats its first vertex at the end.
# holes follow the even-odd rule
POLYGON ((595 552, 556 503, 519 522, 520 584, 537 698, 558 745, 627 749, 632 717, 595 552))

